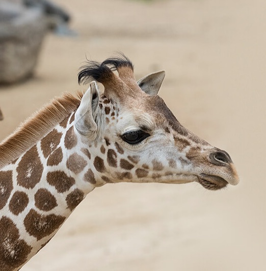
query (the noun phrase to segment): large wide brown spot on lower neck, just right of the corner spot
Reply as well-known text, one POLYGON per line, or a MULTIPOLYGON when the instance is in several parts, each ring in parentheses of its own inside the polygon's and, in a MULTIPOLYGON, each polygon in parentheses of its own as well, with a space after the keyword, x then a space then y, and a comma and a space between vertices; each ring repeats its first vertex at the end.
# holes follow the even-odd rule
POLYGON ((30 235, 40 240, 57 230, 65 219, 57 215, 40 215, 36 210, 31 209, 24 219, 24 226, 30 235))

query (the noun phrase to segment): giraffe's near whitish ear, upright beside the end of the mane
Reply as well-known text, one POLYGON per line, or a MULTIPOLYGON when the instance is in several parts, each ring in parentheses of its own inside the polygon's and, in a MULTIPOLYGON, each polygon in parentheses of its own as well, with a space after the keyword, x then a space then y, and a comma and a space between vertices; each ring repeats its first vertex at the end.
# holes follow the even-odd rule
POLYGON ((75 128, 78 133, 95 139, 97 135, 97 124, 95 118, 98 112, 99 91, 95 81, 90 82, 90 86, 82 97, 81 104, 75 113, 75 128))

